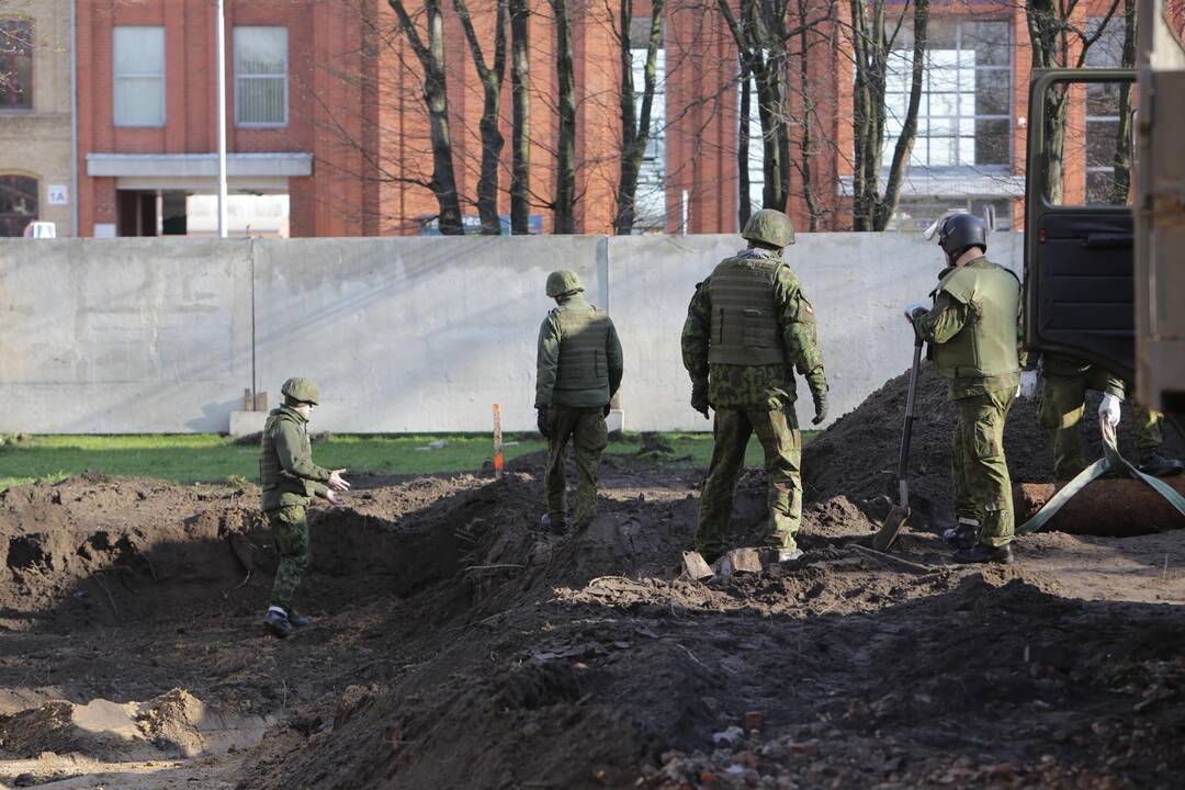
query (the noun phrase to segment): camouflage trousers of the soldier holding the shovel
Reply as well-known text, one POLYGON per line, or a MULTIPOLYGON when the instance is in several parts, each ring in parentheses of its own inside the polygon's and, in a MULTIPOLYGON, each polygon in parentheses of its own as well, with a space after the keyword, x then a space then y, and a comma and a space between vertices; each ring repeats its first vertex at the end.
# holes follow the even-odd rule
POLYGON ((959 398, 950 462, 955 482, 955 514, 979 522, 979 542, 1012 542, 1012 479, 1004 458, 1004 423, 1016 390, 1006 387, 959 398))

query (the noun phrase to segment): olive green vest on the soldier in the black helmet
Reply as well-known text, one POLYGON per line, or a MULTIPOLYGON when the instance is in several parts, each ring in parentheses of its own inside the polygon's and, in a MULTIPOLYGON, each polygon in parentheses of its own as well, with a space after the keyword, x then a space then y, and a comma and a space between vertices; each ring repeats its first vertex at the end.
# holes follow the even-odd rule
MULTIPOLYGON (((934 364, 948 379, 988 378, 1020 370, 1017 355, 1017 315, 1020 281, 987 258, 953 269, 939 283, 967 306, 967 323, 934 348, 934 364)), ((935 293, 937 293, 935 291, 935 293)))

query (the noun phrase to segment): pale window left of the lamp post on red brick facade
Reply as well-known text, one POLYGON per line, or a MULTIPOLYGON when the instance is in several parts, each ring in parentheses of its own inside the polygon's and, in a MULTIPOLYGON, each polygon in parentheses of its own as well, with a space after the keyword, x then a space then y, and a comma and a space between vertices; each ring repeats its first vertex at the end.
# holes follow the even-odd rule
POLYGON ((165 126, 165 28, 116 27, 115 126, 165 126))

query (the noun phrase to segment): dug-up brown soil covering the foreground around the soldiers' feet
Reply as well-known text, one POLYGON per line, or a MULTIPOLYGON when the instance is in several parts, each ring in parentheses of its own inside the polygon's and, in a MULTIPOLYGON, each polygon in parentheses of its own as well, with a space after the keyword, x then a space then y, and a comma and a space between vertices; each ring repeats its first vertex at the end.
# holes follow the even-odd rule
MULTIPOLYGON (((1039 481, 1014 415, 1014 468, 1039 481)), ((565 537, 538 529, 539 458, 364 481, 314 513, 314 624, 286 641, 260 624, 255 492, 12 489, 0 784, 1179 786, 1183 533, 1040 534, 1011 567, 965 569, 915 529, 909 565, 878 558, 858 545, 899 416, 870 402, 812 443, 806 561, 706 584, 677 574, 702 471, 607 462, 600 515, 565 537)), ((934 513, 948 431, 927 419, 915 443, 934 513)), ((738 545, 763 510, 749 474, 738 545)))

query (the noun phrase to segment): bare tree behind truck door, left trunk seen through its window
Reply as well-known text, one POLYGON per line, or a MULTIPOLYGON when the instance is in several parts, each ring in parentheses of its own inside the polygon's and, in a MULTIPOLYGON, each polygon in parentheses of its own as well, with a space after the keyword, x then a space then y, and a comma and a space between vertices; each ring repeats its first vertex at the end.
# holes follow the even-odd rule
MULTIPOLYGON (((1103 34, 1107 23, 1115 15, 1120 0, 1112 0, 1107 13, 1094 32, 1088 32, 1077 25, 1078 2, 1080 0, 1030 0, 1025 4, 1035 69, 1081 68, 1087 62, 1090 47, 1103 34)), ((1042 128, 1045 172, 1048 174, 1045 182, 1049 192, 1045 197, 1053 204, 1062 203, 1064 197, 1063 168, 1065 166, 1069 108, 1070 90, 1066 84, 1056 84, 1046 91, 1045 123, 1042 128)), ((1119 154, 1116 153, 1116 155, 1119 154)))

